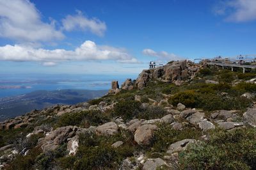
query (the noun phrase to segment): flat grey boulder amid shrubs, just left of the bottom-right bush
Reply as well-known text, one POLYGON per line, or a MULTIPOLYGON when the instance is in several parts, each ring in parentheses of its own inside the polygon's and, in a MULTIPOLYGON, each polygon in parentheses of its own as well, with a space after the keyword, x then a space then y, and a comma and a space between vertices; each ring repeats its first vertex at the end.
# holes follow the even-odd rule
POLYGON ((196 143, 196 140, 195 139, 183 139, 182 141, 178 141, 177 143, 171 144, 166 153, 172 154, 174 152, 186 150, 186 148, 188 147, 188 144, 191 144, 191 143, 196 143))

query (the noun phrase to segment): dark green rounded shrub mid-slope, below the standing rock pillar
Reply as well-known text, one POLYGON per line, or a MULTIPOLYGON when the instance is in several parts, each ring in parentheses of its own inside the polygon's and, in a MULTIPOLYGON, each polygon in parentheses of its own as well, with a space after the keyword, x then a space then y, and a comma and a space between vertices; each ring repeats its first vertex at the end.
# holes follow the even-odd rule
POLYGON ((127 121, 141 112, 141 103, 135 100, 124 100, 114 106, 113 116, 122 116, 127 121))

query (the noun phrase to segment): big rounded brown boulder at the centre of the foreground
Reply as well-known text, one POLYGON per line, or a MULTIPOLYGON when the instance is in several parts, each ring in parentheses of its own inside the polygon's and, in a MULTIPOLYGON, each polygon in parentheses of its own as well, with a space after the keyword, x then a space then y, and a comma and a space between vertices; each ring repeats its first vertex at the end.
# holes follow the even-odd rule
POLYGON ((138 144, 149 144, 150 139, 154 135, 154 130, 157 130, 156 125, 142 125, 134 134, 134 141, 138 144))

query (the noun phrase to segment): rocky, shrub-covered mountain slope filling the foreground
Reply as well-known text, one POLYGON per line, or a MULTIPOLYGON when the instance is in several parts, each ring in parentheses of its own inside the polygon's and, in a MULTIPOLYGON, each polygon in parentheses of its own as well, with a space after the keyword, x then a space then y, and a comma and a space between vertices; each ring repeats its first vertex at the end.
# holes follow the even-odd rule
POLYGON ((0 123, 0 169, 256 169, 256 73, 188 60, 0 123))

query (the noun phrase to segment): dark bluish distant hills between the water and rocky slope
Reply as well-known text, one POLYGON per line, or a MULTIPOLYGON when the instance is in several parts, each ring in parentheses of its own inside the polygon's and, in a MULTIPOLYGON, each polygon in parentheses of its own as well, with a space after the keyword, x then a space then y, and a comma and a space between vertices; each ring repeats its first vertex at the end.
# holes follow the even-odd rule
POLYGON ((106 93, 107 90, 62 89, 34 91, 26 95, 0 98, 0 121, 51 105, 86 102, 92 98, 102 97, 106 93))

